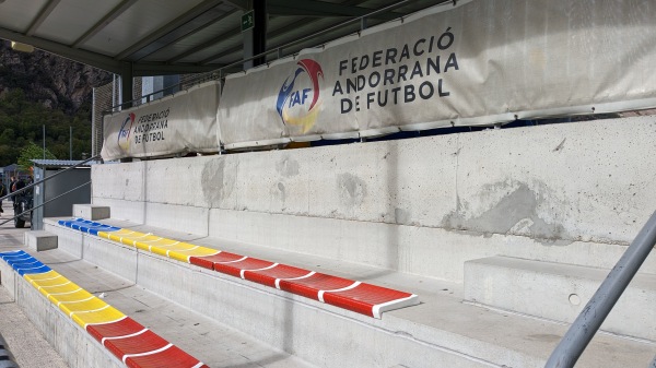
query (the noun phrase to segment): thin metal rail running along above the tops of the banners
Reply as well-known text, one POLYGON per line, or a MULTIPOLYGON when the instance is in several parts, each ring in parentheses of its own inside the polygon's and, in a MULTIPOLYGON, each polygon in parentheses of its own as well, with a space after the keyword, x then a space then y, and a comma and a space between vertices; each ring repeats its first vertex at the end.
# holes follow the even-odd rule
MULTIPOLYGON (((326 35, 326 34, 328 34, 330 32, 333 32, 333 31, 337 31, 337 29, 340 29, 340 28, 344 28, 347 26, 350 26, 350 25, 353 25, 353 24, 356 24, 356 23, 360 23, 360 32, 362 32, 362 31, 366 29, 366 27, 367 27, 367 23, 366 23, 366 19, 367 17, 373 17, 373 16, 378 15, 378 14, 384 13, 384 12, 394 11, 394 10, 397 10, 399 8, 403 8, 403 7, 406 7, 406 5, 410 4, 410 3, 413 3, 413 2, 418 2, 418 0, 402 0, 402 1, 396 2, 394 4, 387 5, 385 8, 380 8, 378 10, 372 11, 371 13, 367 13, 367 14, 364 14, 364 15, 361 15, 361 16, 358 16, 358 17, 353 17, 351 20, 344 21, 342 23, 339 23, 337 25, 330 26, 330 27, 325 28, 323 31, 313 33, 313 34, 311 34, 308 36, 295 39, 295 40, 286 43, 284 45, 272 47, 272 48, 268 49, 267 51, 260 52, 258 55, 255 55, 255 56, 251 56, 251 57, 248 57, 248 58, 244 58, 244 59, 242 59, 239 61, 235 61, 233 63, 230 63, 230 64, 223 66, 221 68, 218 68, 216 70, 213 70, 213 71, 210 71, 210 72, 207 72, 207 73, 202 73, 200 76, 198 76, 196 79, 191 79, 189 81, 185 81, 185 82, 180 82, 180 83, 175 84, 175 85, 167 86, 167 87, 162 88, 160 91, 155 91, 155 92, 150 93, 148 95, 143 95, 143 96, 139 97, 139 98, 134 98, 132 100, 125 102, 125 103, 121 103, 119 105, 114 105, 114 106, 112 106, 112 108, 109 110, 103 111, 103 115, 113 114, 113 112, 119 111, 124 107, 139 106, 139 105, 141 105, 141 102, 144 100, 144 99, 147 102, 154 100, 154 99, 156 99, 156 98, 153 98, 155 95, 164 94, 164 92, 171 91, 171 90, 175 90, 175 88, 183 90, 183 85, 194 86, 196 84, 200 84, 200 83, 207 82, 207 81, 221 80, 221 79, 225 78, 229 74, 227 71, 231 68, 234 68, 234 67, 237 67, 237 66, 243 66, 244 63, 246 63, 248 61, 256 60, 258 58, 262 58, 262 57, 266 57, 266 56, 269 56, 269 55, 273 54, 274 58, 272 60, 267 61, 266 63, 269 63, 269 62, 278 60, 278 59, 282 59, 283 57, 286 57, 286 56, 283 56, 283 50, 286 49, 286 48, 296 46, 298 44, 303 44, 303 43, 308 41, 311 39, 314 39, 314 38, 320 37, 323 35, 326 35)), ((441 4, 445 4, 445 3, 452 3, 452 4, 455 5, 457 3, 457 0, 440 0, 440 1, 436 1, 433 5, 441 5, 441 4)), ((406 15, 399 14, 398 19, 402 20, 405 16, 406 15)), ((318 45, 315 45, 314 47, 318 47, 318 46, 321 46, 321 45, 324 45, 324 44, 318 44, 318 45)), ((292 55, 295 55, 296 52, 293 52, 292 55)))

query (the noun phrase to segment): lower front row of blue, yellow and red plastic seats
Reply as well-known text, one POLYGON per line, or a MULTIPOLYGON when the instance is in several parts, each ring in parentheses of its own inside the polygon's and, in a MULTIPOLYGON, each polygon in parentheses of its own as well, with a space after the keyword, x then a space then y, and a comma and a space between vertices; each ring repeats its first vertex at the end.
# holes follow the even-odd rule
POLYGON ((131 368, 208 367, 28 253, 0 253, 32 286, 131 368))

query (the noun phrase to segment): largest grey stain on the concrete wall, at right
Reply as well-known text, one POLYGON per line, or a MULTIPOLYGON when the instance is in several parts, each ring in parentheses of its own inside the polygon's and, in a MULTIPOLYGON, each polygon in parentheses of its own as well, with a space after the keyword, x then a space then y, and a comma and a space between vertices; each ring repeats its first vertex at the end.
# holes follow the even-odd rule
MULTIPOLYGON (((572 237, 562 224, 548 223, 539 216, 539 207, 552 199, 546 186, 539 191, 528 185, 516 181, 504 181, 485 186, 479 192, 481 199, 506 191, 499 202, 476 217, 467 218, 466 204, 458 199, 456 211, 442 219, 442 226, 447 229, 473 230, 484 235, 506 234, 535 238, 550 246, 565 246, 572 242, 572 237)), ((550 205, 551 207, 552 205, 550 205)))

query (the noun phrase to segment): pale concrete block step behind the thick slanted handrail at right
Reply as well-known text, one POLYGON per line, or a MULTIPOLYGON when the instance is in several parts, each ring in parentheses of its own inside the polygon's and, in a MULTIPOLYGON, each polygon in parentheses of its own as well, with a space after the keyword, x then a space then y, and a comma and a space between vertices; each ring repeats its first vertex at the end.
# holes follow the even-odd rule
MULTIPOLYGON (((465 300, 573 322, 610 270, 490 257, 465 263, 465 300)), ((639 272, 601 330, 656 341, 656 274, 639 272)))

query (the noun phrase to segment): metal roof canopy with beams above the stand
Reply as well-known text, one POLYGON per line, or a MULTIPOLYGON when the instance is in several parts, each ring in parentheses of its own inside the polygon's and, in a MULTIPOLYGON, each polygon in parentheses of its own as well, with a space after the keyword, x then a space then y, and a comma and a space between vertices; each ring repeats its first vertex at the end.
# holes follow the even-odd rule
MULTIPOLYGON (((116 74, 199 73, 244 59, 242 15, 265 0, 0 0, 0 38, 28 44, 116 74)), ((375 25, 453 0, 406 1, 375 25)), ((266 0, 267 50, 398 0, 266 0)), ((360 29, 360 23, 295 44, 297 52, 360 29)))

